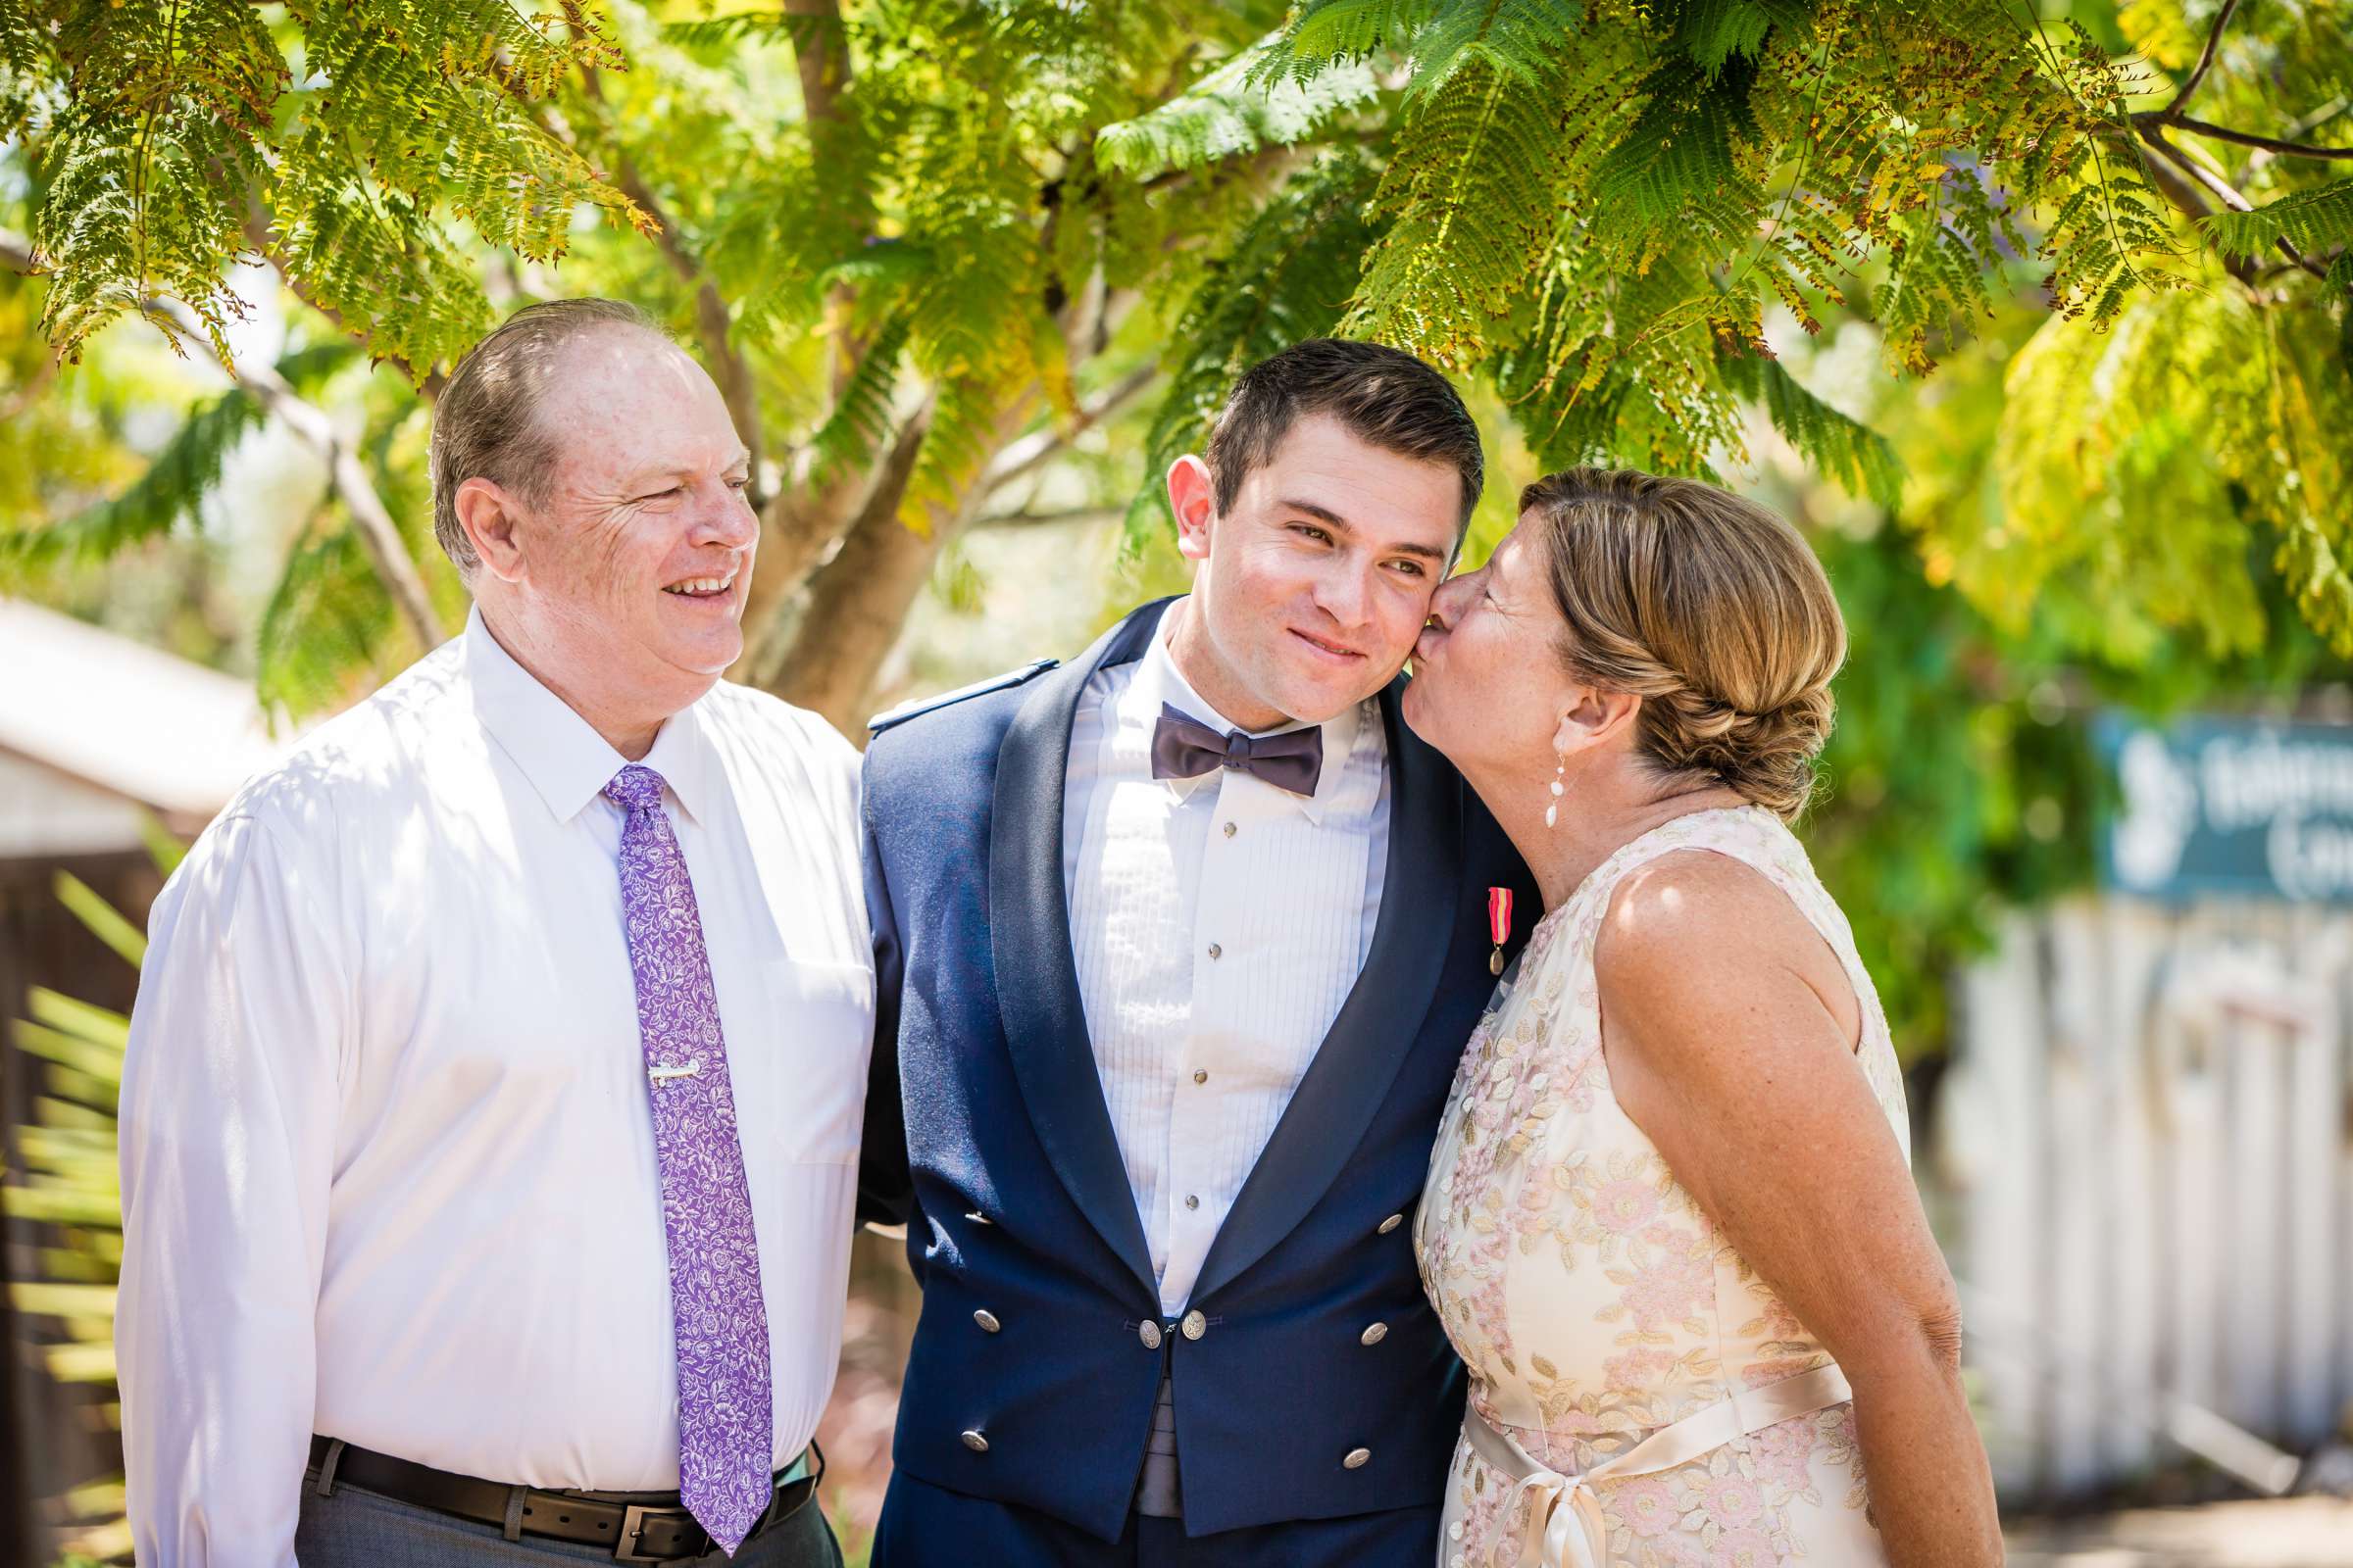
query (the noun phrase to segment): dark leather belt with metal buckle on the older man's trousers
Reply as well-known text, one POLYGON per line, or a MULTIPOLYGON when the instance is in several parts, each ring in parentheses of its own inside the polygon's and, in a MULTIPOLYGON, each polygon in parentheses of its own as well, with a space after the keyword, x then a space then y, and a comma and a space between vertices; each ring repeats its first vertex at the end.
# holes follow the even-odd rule
MULTIPOLYGON (((776 1472, 776 1493, 753 1526, 753 1535, 798 1512, 816 1493, 826 1458, 809 1443, 807 1453, 776 1472)), ((518 1535, 612 1547, 621 1563, 668 1563, 711 1552, 711 1533, 694 1523, 678 1493, 576 1493, 539 1486, 508 1486, 452 1476, 388 1453, 353 1448, 332 1436, 311 1439, 311 1486, 332 1495, 336 1483, 381 1493, 395 1502, 456 1514, 518 1535)), ((748 1540, 748 1537, 746 1537, 748 1540)))

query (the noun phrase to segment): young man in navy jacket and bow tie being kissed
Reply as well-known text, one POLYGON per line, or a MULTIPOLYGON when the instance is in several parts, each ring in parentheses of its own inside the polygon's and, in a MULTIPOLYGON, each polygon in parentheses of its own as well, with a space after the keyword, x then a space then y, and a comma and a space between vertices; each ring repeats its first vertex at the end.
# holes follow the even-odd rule
POLYGON ((922 1281, 875 1568, 1435 1561, 1407 1220, 1534 889, 1398 693, 1480 484, 1438 371, 1301 343, 1169 468, 1191 595, 875 722, 861 1187, 922 1281))

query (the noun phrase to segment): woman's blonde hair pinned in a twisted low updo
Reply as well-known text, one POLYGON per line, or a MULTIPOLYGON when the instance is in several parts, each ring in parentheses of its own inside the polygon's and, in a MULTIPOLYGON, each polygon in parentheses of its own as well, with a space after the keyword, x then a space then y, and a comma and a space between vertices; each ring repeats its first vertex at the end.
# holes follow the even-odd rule
POLYGON ((1520 491, 1562 661, 1642 698, 1635 748, 1795 820, 1831 736, 1847 623, 1798 529, 1697 480, 1569 468, 1520 491))

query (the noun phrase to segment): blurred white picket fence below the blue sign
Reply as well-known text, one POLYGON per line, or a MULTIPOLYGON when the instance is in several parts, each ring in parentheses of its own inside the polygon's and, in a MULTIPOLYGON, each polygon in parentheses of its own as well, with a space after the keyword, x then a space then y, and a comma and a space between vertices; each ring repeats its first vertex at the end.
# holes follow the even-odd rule
POLYGON ((1962 987, 1932 1182, 2005 1495, 2181 1446, 2285 1483, 2353 1401, 2353 910, 2080 898, 1962 987), (2221 1422, 2214 1422, 2214 1418, 2221 1422), (2228 1422, 2228 1425, 2224 1425, 2228 1422))

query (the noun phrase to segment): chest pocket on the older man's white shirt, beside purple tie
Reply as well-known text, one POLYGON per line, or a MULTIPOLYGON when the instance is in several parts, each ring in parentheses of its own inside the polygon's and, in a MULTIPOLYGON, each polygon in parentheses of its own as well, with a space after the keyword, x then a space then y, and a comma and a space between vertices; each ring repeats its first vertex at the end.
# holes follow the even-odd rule
POLYGON ((875 1027, 873 969, 767 959, 760 990, 769 1039, 758 1095, 765 1126, 746 1119, 744 1140, 765 1140, 784 1164, 856 1161, 875 1027))

